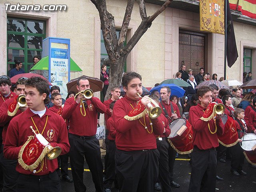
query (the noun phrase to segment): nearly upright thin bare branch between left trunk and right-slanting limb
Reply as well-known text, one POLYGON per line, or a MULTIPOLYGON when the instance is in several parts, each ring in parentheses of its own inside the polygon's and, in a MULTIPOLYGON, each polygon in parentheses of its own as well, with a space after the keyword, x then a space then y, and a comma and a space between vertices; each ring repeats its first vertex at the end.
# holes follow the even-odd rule
POLYGON ((127 29, 131 20, 133 5, 134 5, 134 0, 128 0, 125 14, 124 14, 124 20, 122 23, 121 32, 119 34, 119 39, 118 39, 119 46, 122 46, 125 42, 127 29))

